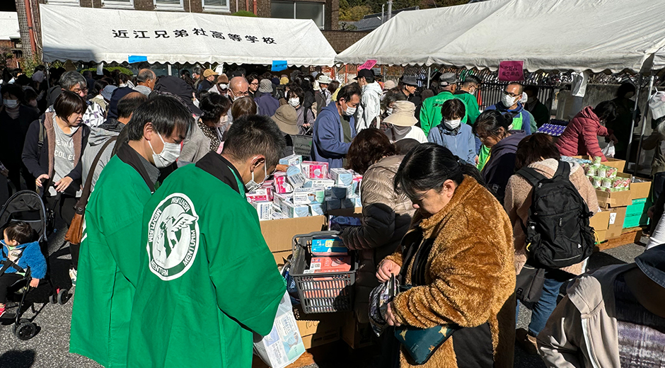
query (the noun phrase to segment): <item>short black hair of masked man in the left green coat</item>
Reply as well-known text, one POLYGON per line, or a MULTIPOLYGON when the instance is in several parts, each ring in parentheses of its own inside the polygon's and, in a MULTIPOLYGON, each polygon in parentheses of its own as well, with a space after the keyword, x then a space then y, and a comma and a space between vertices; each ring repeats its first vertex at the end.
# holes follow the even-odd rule
POLYGON ((163 94, 151 96, 134 111, 132 120, 127 123, 127 138, 130 141, 143 138, 143 129, 149 122, 162 137, 168 137, 174 130, 184 131, 187 137, 195 125, 192 113, 182 100, 163 94))

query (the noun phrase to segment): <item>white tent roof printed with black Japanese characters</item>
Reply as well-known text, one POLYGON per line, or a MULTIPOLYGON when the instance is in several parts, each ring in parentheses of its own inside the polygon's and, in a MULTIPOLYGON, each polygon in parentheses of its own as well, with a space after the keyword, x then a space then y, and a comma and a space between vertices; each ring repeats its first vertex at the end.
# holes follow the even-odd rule
POLYGON ((136 55, 151 63, 286 60, 316 66, 335 59, 311 20, 57 5, 41 5, 40 16, 45 62, 127 62, 136 55))

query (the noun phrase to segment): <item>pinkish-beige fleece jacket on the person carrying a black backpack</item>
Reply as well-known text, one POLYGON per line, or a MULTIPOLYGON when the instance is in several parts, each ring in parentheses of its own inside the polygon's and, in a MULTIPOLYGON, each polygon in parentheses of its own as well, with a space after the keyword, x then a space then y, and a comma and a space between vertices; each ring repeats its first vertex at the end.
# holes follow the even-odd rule
MULTIPOLYGON (((589 207, 589 211, 598 212, 598 198, 596 197, 596 190, 591 185, 589 179, 584 175, 582 166, 577 163, 570 164, 569 179, 575 186, 579 195, 589 207)), ((538 173, 543 174, 545 178, 552 178, 558 168, 558 161, 555 159, 546 159, 531 163, 528 167, 535 169, 538 173)), ((515 243, 515 272, 519 275, 524 263, 526 263, 526 234, 524 229, 526 226, 526 219, 528 219, 528 209, 531 207, 531 197, 533 197, 533 186, 528 181, 519 175, 511 176, 506 185, 506 197, 504 200, 504 208, 508 212, 508 217, 513 225, 513 241, 515 243)), ((582 273, 582 264, 572 265, 562 270, 579 275, 582 273)))

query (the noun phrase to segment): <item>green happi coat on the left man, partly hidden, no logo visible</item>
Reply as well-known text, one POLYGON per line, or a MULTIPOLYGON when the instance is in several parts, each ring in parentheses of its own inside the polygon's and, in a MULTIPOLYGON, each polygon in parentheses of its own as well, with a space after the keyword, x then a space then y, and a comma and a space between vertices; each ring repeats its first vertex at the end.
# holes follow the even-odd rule
MULTIPOLYGON (((122 154, 141 167, 138 154, 127 144, 123 148, 122 154)), ((122 154, 119 151, 118 155, 122 154)), ((127 366, 141 218, 150 196, 146 179, 114 156, 99 176, 86 207, 69 351, 105 367, 127 366)))

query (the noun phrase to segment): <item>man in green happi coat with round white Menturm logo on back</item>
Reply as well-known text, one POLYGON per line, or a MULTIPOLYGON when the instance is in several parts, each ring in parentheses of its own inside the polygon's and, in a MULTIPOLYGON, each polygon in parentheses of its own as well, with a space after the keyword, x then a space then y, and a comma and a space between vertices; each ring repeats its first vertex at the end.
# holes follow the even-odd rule
POLYGON ((233 121, 221 155, 178 168, 146 204, 129 367, 245 367, 272 330, 284 279, 245 200, 274 171, 284 134, 233 121))

